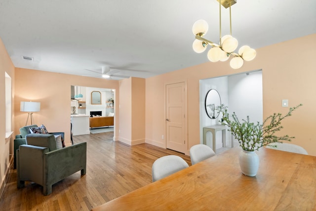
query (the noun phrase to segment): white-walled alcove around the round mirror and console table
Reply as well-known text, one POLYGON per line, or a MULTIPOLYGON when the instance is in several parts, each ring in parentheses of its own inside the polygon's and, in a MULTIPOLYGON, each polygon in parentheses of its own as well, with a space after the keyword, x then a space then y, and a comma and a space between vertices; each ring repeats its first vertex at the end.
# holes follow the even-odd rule
MULTIPOLYGON (((251 122, 263 121, 263 92, 262 92, 262 70, 255 70, 235 75, 222 76, 211 79, 200 80, 199 87, 199 111, 200 111, 200 143, 203 143, 203 127, 221 124, 222 114, 217 118, 209 118, 205 110, 205 97, 210 89, 218 91, 221 104, 228 106, 228 112, 236 112, 239 119, 250 117, 251 122)), ((213 148, 213 137, 207 132, 206 145, 213 148)), ((232 139, 231 133, 226 129, 226 135, 222 132, 215 134, 216 151, 225 151, 228 148, 238 146, 237 140, 232 139), (222 142, 225 137, 225 144, 222 142), (226 147, 223 147, 225 146, 226 147)))

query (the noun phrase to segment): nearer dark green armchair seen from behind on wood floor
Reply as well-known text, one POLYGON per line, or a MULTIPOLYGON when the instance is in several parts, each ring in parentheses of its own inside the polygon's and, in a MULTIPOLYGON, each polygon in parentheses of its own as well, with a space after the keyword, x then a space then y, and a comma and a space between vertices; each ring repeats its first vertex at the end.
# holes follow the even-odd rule
POLYGON ((17 187, 25 181, 43 186, 43 195, 52 192, 52 185, 77 171, 86 173, 86 142, 57 149, 52 134, 28 134, 28 144, 16 151, 17 187))

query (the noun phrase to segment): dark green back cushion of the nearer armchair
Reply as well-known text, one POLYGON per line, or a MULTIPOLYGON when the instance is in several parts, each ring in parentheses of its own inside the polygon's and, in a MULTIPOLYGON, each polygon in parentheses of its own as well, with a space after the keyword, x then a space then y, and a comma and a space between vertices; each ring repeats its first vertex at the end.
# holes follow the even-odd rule
POLYGON ((31 133, 26 135, 26 144, 47 147, 49 151, 56 150, 55 136, 52 134, 31 133))

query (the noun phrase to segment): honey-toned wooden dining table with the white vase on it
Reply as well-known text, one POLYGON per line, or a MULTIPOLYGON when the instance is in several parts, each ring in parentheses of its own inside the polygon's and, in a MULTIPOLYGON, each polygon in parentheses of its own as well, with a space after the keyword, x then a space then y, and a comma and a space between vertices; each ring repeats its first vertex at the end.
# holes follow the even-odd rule
POLYGON ((148 184, 92 211, 314 211, 316 157, 260 148, 254 177, 241 173, 240 147, 148 184))

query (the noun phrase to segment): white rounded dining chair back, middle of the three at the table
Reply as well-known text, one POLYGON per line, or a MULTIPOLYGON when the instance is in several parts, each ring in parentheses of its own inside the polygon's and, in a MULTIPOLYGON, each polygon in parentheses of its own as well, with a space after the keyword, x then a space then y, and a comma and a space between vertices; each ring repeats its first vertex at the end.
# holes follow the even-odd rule
POLYGON ((192 165, 204 161, 215 155, 215 152, 205 144, 197 144, 190 148, 190 157, 192 165))

